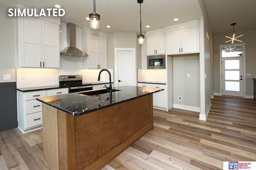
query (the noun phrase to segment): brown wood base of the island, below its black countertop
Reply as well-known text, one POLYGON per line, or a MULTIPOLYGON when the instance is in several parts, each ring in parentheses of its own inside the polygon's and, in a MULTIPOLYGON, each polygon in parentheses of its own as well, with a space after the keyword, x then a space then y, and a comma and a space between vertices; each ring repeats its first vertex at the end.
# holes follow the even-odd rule
POLYGON ((153 128, 153 94, 81 116, 43 104, 43 149, 52 170, 97 170, 153 128))

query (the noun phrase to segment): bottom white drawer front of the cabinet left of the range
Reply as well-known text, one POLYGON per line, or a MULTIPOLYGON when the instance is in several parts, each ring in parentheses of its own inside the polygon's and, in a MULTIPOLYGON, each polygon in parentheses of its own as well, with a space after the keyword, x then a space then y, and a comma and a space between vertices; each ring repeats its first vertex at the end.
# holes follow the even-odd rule
POLYGON ((26 115, 25 129, 42 125, 42 111, 26 115))

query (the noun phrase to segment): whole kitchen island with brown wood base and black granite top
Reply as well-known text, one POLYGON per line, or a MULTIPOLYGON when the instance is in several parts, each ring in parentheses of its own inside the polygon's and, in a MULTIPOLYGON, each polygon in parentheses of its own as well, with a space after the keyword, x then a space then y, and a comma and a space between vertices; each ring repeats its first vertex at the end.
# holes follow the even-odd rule
POLYGON ((153 128, 152 94, 120 86, 109 93, 37 98, 43 103, 43 149, 52 170, 100 169, 153 128))

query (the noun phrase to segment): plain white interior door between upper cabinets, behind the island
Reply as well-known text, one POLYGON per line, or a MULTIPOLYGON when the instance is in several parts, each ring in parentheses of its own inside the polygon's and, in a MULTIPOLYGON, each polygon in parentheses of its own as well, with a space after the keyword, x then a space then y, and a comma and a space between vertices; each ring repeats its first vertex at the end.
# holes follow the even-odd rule
POLYGON ((118 86, 136 85, 136 63, 134 50, 117 50, 117 83, 118 86))

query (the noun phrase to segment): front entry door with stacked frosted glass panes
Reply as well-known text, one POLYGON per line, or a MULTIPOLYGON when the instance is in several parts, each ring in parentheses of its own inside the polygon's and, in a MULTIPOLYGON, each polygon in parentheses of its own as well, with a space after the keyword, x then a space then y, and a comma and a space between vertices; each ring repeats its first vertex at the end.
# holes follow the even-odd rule
POLYGON ((243 57, 222 58, 222 95, 243 97, 243 57))

